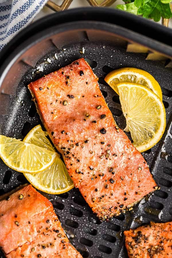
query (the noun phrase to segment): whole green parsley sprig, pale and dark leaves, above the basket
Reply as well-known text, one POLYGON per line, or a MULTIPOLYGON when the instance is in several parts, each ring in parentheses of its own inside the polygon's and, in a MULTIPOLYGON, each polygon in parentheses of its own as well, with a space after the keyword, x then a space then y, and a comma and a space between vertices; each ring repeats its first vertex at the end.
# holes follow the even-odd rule
MULTIPOLYGON (((123 0, 124 1, 124 0, 123 0)), ((124 5, 117 5, 116 8, 129 13, 142 15, 144 18, 159 21, 161 17, 172 18, 170 2, 172 0, 129 0, 124 5)))

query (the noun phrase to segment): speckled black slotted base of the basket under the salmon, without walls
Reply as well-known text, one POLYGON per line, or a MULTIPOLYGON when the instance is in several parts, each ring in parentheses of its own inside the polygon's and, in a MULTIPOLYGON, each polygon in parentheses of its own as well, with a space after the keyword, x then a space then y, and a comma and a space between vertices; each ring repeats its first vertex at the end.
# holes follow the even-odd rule
MULTIPOLYGON (((161 187, 145 197, 133 210, 114 217, 110 222, 101 222, 86 204, 78 189, 61 195, 42 193, 53 204, 62 226, 71 243, 83 255, 94 258, 126 258, 123 231, 136 228, 150 221, 172 220, 172 114, 171 68, 160 61, 146 60, 146 54, 128 53, 126 47, 110 46, 103 42, 85 41, 53 50, 39 60, 35 68, 30 67, 13 97, 13 105, 1 125, 2 134, 23 139, 37 124, 41 124, 36 108, 27 89, 28 83, 72 61, 84 57, 99 77, 103 96, 118 126, 125 127, 118 95, 105 81, 105 75, 118 68, 136 67, 148 71, 161 85, 166 110, 167 126, 161 141, 151 150, 143 153, 155 181, 161 187)), ((127 134, 130 138, 130 134, 127 134)), ((27 180, 16 171, 9 169, 0 160, 0 194, 10 191, 27 180)), ((0 257, 4 257, 0 253, 0 257)))

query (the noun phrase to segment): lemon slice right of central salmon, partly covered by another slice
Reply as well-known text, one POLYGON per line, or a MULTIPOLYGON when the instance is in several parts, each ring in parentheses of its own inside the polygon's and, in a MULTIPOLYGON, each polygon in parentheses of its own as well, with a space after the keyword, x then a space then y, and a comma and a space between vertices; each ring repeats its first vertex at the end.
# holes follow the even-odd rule
POLYGON ((117 83, 131 82, 143 85, 151 89, 161 100, 163 99, 161 87, 150 73, 137 68, 126 67, 108 73, 105 81, 119 95, 117 83))

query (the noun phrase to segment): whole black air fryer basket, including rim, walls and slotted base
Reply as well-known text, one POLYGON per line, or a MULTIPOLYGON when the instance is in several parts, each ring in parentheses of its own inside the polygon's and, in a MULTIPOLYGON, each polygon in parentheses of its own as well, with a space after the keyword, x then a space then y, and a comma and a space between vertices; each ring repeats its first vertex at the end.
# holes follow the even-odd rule
MULTIPOLYGON (((78 58, 84 57, 99 77, 101 92, 122 129, 126 125, 119 96, 105 83, 105 75, 121 67, 137 67, 148 71, 161 85, 166 131, 156 146, 143 153, 160 190, 110 222, 101 222, 93 214, 78 189, 61 195, 42 193, 52 202, 68 238, 83 257, 125 258, 124 230, 150 221, 172 220, 172 47, 167 44, 167 38, 172 42, 172 33, 155 24, 150 26, 142 18, 125 15, 105 8, 65 11, 32 24, 0 53, 0 133, 10 137, 23 139, 31 128, 41 124, 28 83, 78 58), (121 26, 118 18, 123 19, 121 26), (142 34, 138 34, 138 23, 142 34), (133 52, 136 50, 140 53, 133 52)), ((25 177, 0 160, 0 195, 23 183, 27 183, 25 177)))

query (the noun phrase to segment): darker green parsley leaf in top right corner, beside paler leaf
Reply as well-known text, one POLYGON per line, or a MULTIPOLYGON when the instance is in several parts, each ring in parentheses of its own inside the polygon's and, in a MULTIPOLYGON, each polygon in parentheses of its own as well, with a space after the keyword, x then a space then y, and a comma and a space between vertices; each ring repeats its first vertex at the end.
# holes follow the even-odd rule
POLYGON ((171 18, 172 12, 169 3, 164 4, 161 1, 163 0, 149 0, 138 9, 137 14, 144 18, 154 19, 154 21, 159 21, 161 16, 166 19, 171 18))

